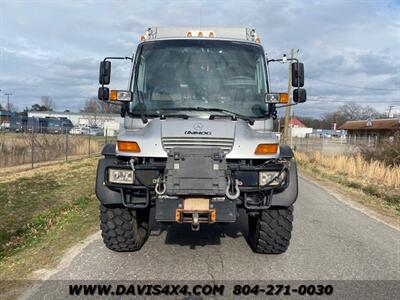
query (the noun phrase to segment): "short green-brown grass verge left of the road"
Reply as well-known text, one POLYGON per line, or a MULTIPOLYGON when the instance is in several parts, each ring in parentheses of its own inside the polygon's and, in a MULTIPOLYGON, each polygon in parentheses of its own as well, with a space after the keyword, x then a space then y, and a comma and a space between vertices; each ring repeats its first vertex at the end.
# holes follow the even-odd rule
POLYGON ((98 230, 96 164, 92 158, 0 177, 0 290, 53 267, 98 230))

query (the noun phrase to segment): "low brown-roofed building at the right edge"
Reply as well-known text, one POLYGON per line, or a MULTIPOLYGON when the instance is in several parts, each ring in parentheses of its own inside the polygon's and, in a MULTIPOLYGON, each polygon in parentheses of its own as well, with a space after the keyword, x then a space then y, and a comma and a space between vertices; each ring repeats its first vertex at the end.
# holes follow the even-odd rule
POLYGON ((400 118, 347 121, 339 129, 346 130, 348 139, 390 138, 400 134, 400 118))

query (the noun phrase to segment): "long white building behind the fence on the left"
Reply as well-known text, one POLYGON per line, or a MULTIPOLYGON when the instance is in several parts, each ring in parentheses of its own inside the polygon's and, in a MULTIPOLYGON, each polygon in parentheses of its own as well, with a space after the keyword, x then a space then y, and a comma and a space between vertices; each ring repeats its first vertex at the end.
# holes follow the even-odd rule
POLYGON ((100 114, 100 113, 75 113, 75 112, 55 112, 55 111, 30 111, 28 117, 34 118, 67 118, 70 119, 74 126, 99 126, 118 130, 124 119, 119 114, 100 114))

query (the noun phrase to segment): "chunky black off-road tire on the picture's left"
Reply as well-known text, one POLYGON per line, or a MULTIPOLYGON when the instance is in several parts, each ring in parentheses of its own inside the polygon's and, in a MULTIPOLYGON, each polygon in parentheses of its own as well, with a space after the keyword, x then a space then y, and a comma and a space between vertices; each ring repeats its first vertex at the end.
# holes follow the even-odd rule
POLYGON ((137 251, 150 233, 149 209, 109 207, 100 204, 100 228, 107 248, 118 251, 137 251))

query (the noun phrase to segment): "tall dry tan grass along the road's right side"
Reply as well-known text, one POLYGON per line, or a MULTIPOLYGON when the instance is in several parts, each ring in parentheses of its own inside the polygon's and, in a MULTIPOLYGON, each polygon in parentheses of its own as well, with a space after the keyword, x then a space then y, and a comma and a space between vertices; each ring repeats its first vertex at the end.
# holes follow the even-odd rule
POLYGON ((400 166, 365 160, 360 154, 321 155, 297 152, 301 169, 375 197, 400 216, 400 166))

